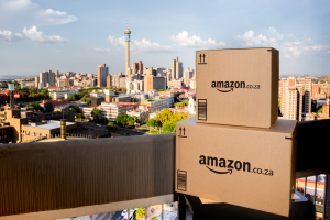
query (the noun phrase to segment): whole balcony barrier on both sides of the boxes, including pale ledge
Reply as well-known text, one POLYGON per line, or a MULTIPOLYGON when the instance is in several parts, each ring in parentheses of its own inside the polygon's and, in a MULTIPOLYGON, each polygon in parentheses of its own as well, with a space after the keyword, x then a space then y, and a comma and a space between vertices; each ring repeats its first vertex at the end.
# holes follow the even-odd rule
MULTIPOLYGON (((329 128, 330 120, 298 123, 297 178, 329 177, 329 128)), ((61 219, 172 202, 174 163, 175 134, 3 144, 0 220, 61 219)), ((318 188, 312 201, 329 220, 329 178, 322 206, 318 188)))

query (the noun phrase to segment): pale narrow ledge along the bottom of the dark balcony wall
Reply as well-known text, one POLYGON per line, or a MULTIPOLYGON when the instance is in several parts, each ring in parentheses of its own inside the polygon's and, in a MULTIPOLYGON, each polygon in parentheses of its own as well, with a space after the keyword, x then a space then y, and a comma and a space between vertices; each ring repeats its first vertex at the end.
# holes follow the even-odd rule
POLYGON ((160 204, 169 204, 174 201, 174 195, 164 195, 156 196, 145 199, 135 199, 112 204, 102 204, 96 206, 85 206, 77 207, 72 209, 58 209, 52 211, 40 211, 40 212, 31 212, 23 215, 14 215, 14 216, 4 216, 0 217, 0 220, 53 220, 53 219, 64 219, 72 217, 80 217, 80 216, 89 216, 95 213, 106 213, 111 211, 120 211, 124 209, 140 208, 140 207, 148 207, 160 204))

